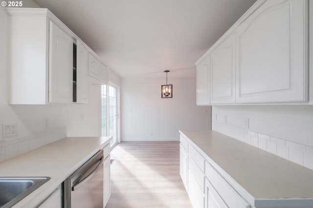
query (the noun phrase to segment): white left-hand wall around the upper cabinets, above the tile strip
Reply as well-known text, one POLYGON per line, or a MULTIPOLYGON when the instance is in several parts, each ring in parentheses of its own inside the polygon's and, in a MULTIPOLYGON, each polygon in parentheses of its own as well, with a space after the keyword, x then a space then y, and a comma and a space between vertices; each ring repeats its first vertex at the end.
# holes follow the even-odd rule
MULTIPOLYGON (((23 1, 24 2, 24 1, 23 1)), ((26 5, 36 6, 32 1, 25 1, 26 5), (26 4, 27 3, 27 4, 26 4)), ((30 141, 26 139, 39 137, 45 132, 50 134, 53 129, 64 129, 67 136, 100 136, 101 135, 101 108, 99 81, 89 77, 88 104, 47 104, 47 105, 9 105, 9 57, 8 57, 8 17, 3 7, 0 7, 0 161, 31 150, 30 141), (95 83, 95 84, 94 84, 95 83), (48 118, 48 129, 44 129, 43 120, 48 118), (18 135, 16 141, 2 138, 2 124, 17 124, 18 135), (28 140, 27 140, 28 141, 28 140), (8 145, 15 145, 8 147, 8 145), (12 147, 12 148, 11 148, 12 147), (20 150, 16 150, 20 148, 20 150), (14 151, 15 153, 12 154, 14 151), (23 152, 22 151, 22 152, 23 152)), ((114 75, 113 72, 111 74, 114 75)), ((114 83, 120 83, 120 78, 112 76, 114 83)), ((36 80, 34 80, 36 82, 36 80)), ((65 135, 65 136, 66 136, 65 135)), ((51 137, 51 135, 50 135, 51 137)), ((49 139, 44 137, 43 139, 49 139)), ((38 141, 37 141, 38 143, 38 141)), ((36 147, 36 146, 33 146, 36 147)))

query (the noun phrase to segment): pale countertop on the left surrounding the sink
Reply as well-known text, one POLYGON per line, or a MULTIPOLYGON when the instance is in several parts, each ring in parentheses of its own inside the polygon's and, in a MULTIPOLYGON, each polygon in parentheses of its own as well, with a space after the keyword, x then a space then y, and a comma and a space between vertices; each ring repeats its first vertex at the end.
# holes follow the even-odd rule
POLYGON ((39 205, 71 173, 109 142, 110 137, 67 137, 1 162, 1 177, 51 178, 14 208, 39 205))

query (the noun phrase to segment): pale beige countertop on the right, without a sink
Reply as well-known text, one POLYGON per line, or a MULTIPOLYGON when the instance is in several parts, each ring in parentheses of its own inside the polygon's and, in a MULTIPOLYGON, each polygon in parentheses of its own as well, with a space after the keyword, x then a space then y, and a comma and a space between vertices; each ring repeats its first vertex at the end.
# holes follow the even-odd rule
POLYGON ((213 130, 179 131, 255 199, 313 198, 313 170, 213 130))

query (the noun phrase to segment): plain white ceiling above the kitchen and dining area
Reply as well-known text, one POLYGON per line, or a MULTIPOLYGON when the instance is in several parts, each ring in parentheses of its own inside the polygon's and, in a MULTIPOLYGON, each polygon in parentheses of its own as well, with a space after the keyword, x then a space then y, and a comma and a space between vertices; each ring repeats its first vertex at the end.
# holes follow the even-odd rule
POLYGON ((256 0, 34 1, 125 78, 195 76, 195 62, 256 0))

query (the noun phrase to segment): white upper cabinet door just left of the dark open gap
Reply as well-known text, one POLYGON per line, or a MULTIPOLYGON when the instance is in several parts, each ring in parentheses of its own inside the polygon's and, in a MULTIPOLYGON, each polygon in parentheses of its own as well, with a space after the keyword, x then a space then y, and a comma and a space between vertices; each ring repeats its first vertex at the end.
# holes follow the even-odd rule
POLYGON ((73 102, 73 40, 49 22, 49 103, 73 102))

